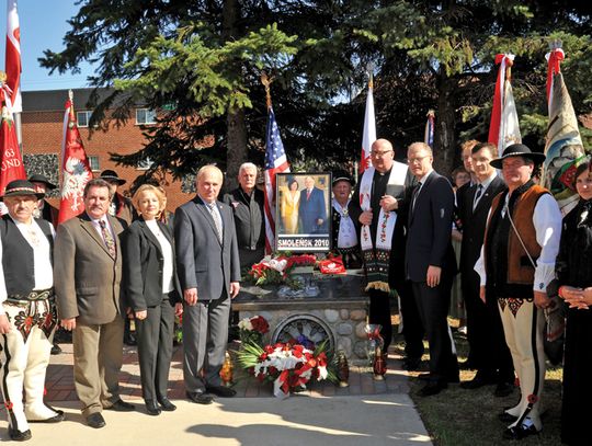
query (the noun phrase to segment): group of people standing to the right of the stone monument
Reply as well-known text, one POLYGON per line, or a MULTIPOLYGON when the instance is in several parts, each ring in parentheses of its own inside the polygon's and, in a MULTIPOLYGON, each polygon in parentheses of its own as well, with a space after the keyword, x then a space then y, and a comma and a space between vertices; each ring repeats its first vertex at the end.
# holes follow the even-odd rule
POLYGON ((368 279, 369 322, 383 327, 387 347, 392 335, 389 294, 396 290, 406 341, 403 368, 419 369, 425 335, 430 371, 420 375, 425 379, 420 394, 439 393, 459 381, 446 317, 452 283, 460 272, 470 351, 460 366, 477 370, 460 387, 496 385, 494 394, 505 397, 519 382, 517 403, 499 419, 508 423, 504 438, 522 439, 543 427, 546 315, 568 306, 561 434, 563 442, 579 444, 587 425, 577 401, 592 393, 592 362, 585 351, 592 325, 589 312, 581 311, 592 304, 592 163, 581 161, 577 169, 572 186, 580 201, 562 219, 553 195, 536 181, 543 153, 514 144, 496 155, 491 144, 464 145, 470 176, 455 194, 433 170, 430 146, 409 146, 407 168, 395 161, 388 140, 373 144, 373 167, 349 205, 368 279), (455 231, 458 268, 451 244, 455 231), (557 304, 555 295, 566 304, 557 304))

